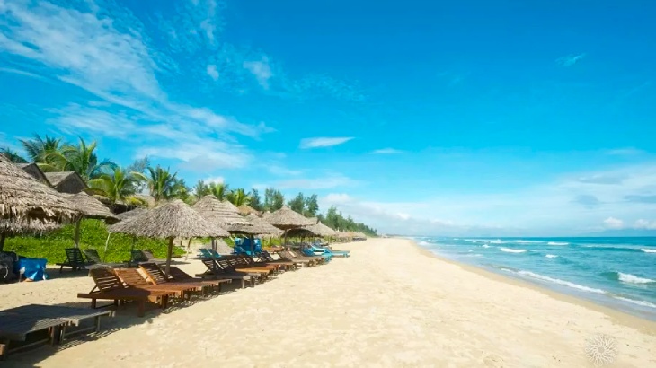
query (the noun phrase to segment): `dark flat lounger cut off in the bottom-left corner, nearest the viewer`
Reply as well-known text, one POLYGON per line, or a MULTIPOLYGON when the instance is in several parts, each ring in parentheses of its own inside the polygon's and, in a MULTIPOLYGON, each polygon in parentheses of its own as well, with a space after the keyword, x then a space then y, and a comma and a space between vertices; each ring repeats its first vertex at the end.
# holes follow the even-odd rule
POLYGON ((16 346, 12 351, 16 352, 44 343, 57 344, 61 329, 66 328, 68 323, 67 320, 0 311, 0 360, 4 360, 9 354, 12 341, 27 341, 28 335, 35 332, 47 331, 48 334, 46 338, 16 346))

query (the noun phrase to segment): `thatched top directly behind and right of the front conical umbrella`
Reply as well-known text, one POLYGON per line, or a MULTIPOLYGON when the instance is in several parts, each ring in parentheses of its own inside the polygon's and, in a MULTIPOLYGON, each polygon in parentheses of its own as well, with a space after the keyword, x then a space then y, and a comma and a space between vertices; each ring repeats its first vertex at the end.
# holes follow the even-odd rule
POLYGON ((209 221, 218 223, 219 226, 232 233, 256 234, 253 232, 253 223, 246 221, 239 215, 237 207, 229 202, 221 202, 212 195, 200 198, 193 209, 204 215, 209 221))

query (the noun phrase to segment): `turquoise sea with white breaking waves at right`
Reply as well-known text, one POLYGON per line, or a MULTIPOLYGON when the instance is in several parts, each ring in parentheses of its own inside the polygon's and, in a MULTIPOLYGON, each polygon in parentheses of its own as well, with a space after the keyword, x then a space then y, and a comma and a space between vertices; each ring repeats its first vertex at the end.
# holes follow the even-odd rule
POLYGON ((656 238, 412 238, 435 254, 656 320, 656 238))

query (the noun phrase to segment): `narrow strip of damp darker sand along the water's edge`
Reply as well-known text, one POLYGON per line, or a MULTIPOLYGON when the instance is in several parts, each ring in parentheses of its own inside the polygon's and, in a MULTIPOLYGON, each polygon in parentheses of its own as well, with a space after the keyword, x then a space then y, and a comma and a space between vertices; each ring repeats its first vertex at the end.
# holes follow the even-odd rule
POLYGON ((581 306, 583 308, 592 310, 592 311, 598 311, 600 313, 605 314, 611 321, 617 324, 624 325, 626 327, 632 328, 632 329, 637 329, 643 333, 646 333, 648 335, 656 336, 656 321, 654 320, 649 320, 646 318, 642 318, 639 316, 636 316, 634 314, 625 312, 625 311, 619 311, 610 307, 607 307, 606 305, 598 304, 596 302, 591 302, 587 299, 580 298, 577 296, 574 296, 572 294, 565 294, 561 293, 552 289, 549 289, 545 286, 542 285, 537 285, 535 283, 531 283, 527 280, 522 280, 519 278, 511 277, 511 276, 506 276, 501 273, 495 273, 490 270, 487 270, 483 267, 476 267, 474 265, 470 265, 464 262, 458 262, 453 259, 445 258, 442 256, 439 256, 438 254, 435 254, 431 252, 430 250, 427 250, 421 245, 417 243, 417 241, 414 241, 412 239, 406 239, 406 238, 396 238, 399 240, 406 240, 410 241, 412 243, 412 246, 416 249, 419 250, 421 254, 424 256, 430 257, 430 258, 436 258, 439 259, 439 261, 448 263, 449 265, 460 267, 465 271, 474 273, 478 276, 483 276, 485 278, 491 279, 493 281, 499 281, 504 284, 509 284, 509 285, 514 285, 514 286, 519 286, 522 288, 527 288, 529 290, 536 291, 540 294, 545 294, 549 297, 552 297, 558 301, 561 302, 568 302, 572 303, 578 306, 581 306))

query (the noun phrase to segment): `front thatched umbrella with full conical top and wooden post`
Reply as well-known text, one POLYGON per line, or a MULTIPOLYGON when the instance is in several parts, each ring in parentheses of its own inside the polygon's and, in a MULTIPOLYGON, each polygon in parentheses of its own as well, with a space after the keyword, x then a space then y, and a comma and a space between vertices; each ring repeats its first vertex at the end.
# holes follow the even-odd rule
POLYGON ((166 275, 169 275, 171 270, 173 239, 230 236, 230 233, 218 226, 217 223, 206 220, 203 215, 187 206, 180 199, 155 207, 128 221, 116 223, 111 226, 110 231, 148 238, 168 239, 166 275))

